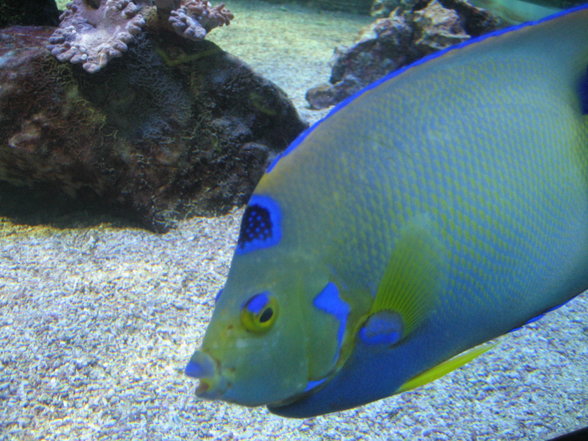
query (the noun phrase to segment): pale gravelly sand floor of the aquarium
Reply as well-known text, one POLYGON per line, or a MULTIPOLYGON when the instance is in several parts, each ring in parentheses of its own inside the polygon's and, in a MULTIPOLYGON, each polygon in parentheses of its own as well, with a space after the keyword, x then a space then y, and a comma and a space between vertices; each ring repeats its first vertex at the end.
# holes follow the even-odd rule
MULTIPOLYGON (((365 17, 229 3, 211 39, 301 113, 365 17)), ((312 116, 315 115, 315 116, 312 116)), ((288 420, 197 401, 183 368, 227 275, 242 211, 154 234, 84 210, 12 216, 0 193, 0 440, 546 440, 588 425, 588 296, 441 380, 288 420), (23 219, 27 219, 26 221, 23 219), (31 221, 31 219, 41 219, 31 221)))

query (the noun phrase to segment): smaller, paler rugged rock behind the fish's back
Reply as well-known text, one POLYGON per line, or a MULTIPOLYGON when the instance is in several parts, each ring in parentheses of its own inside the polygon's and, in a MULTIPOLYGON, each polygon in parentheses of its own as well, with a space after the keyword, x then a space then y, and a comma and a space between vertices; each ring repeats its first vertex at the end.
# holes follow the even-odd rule
POLYGON ((499 26, 465 0, 392 3, 396 9, 389 17, 365 28, 353 46, 335 49, 330 84, 306 93, 311 108, 334 105, 390 72, 499 26))

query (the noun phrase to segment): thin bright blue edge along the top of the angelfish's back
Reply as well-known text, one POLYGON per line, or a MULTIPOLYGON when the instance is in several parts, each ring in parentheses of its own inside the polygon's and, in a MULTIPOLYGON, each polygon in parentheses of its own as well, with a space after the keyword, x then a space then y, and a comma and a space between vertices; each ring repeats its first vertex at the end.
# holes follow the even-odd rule
MULTIPOLYGON (((350 102, 354 101, 356 98, 358 98, 359 96, 363 95, 364 93, 368 92, 369 90, 378 87, 380 84, 385 83, 388 80, 391 80, 394 77, 397 77, 401 74, 403 74, 404 72, 406 72, 409 69, 412 69, 413 67, 419 66, 423 63, 426 63, 430 60, 433 60, 435 58, 439 58, 444 56, 445 54, 447 54, 448 52, 454 51, 454 50, 459 50, 463 47, 466 46, 470 46, 472 44, 476 44, 479 43, 481 41, 484 41, 488 38, 492 38, 492 37, 497 37, 499 35, 503 35, 503 34, 508 34, 510 32, 519 30, 519 29, 523 29, 523 28, 527 28, 527 27, 531 27, 531 26, 535 26, 537 24, 546 22, 546 21, 551 21, 553 19, 574 13, 576 11, 580 11, 582 9, 588 9, 588 4, 584 4, 584 5, 580 5, 577 6, 575 8, 570 8, 570 9, 566 9, 563 10, 561 12, 549 15, 547 17, 541 18, 539 20, 536 21, 529 21, 529 22, 525 22, 525 23, 521 23, 519 25, 516 26, 510 26, 508 28, 504 28, 504 29, 499 29, 497 31, 494 32, 490 32, 488 34, 484 34, 481 35, 479 37, 476 38, 472 38, 470 40, 464 41, 463 43, 457 44, 455 46, 451 46, 448 47, 446 49, 442 49, 440 51, 434 52, 430 55, 427 55, 423 58, 420 58, 419 60, 410 63, 404 67, 401 67, 398 70, 395 70, 393 72, 390 72, 389 74, 383 76, 382 78, 380 78, 379 80, 374 81, 373 83, 369 84, 368 86, 364 87, 363 89, 361 89, 360 91, 354 93, 353 95, 351 95, 350 97, 345 98, 343 101, 341 101, 339 104, 337 104, 335 107, 333 107, 331 109, 331 111, 327 114, 327 116, 325 116, 324 118, 322 118, 320 121, 316 122, 315 124, 313 124, 312 126, 310 126, 309 128, 307 128, 306 130, 304 130, 300 135, 298 135, 298 137, 286 148, 286 150, 283 150, 281 153, 279 153, 274 160, 270 163, 270 165, 267 167, 267 169, 265 170, 266 173, 270 173, 274 167, 278 164, 278 162, 280 162, 280 160, 282 160, 283 158, 285 158, 286 156, 288 156, 290 153, 292 153, 294 150, 296 150, 296 148, 302 144, 302 142, 312 133, 316 130, 316 128, 318 126, 321 125, 321 123, 323 123, 325 120, 327 120, 328 118, 330 118, 331 116, 333 116, 335 113, 337 113, 339 110, 341 110, 342 108, 344 108, 345 106, 347 106, 350 102)), ((588 76, 588 75, 587 75, 588 76)), ((582 112, 583 113, 588 113, 588 97, 586 96, 588 95, 588 83, 586 81, 583 81, 582 86, 581 86, 581 102, 582 102, 582 112)))

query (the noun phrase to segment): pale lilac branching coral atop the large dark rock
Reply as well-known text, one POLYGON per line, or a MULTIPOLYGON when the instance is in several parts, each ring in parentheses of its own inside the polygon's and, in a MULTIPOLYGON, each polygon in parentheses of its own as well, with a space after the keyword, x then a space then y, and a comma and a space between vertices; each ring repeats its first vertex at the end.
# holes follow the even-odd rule
POLYGON ((73 0, 48 48, 59 61, 82 63, 90 73, 102 69, 127 50, 142 32, 146 18, 171 27, 190 40, 202 40, 213 28, 228 25, 233 14, 223 4, 206 0, 73 0), (159 14, 151 14, 155 6, 159 14))

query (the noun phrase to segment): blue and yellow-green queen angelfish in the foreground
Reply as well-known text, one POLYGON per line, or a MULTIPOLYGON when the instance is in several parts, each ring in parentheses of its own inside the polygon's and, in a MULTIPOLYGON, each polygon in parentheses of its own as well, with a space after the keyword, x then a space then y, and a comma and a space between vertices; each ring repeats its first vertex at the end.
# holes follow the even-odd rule
POLYGON ((587 67, 583 6, 437 53, 303 133, 245 210, 186 368, 197 395, 351 408, 587 289, 587 67))

